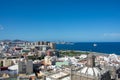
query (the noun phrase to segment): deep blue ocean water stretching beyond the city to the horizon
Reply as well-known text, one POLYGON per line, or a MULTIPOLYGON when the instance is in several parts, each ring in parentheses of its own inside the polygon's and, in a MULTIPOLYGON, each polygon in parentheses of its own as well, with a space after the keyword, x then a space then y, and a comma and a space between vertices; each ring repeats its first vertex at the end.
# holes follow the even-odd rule
POLYGON ((120 55, 120 42, 78 42, 74 44, 57 44, 58 50, 80 50, 120 55))

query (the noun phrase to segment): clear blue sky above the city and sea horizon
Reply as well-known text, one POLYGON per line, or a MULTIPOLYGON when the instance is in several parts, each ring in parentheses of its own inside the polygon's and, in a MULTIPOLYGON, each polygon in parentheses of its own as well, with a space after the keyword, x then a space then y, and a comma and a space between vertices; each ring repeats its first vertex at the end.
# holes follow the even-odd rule
POLYGON ((0 40, 120 42, 120 0, 0 0, 0 40))

